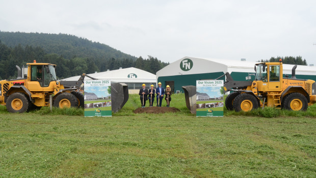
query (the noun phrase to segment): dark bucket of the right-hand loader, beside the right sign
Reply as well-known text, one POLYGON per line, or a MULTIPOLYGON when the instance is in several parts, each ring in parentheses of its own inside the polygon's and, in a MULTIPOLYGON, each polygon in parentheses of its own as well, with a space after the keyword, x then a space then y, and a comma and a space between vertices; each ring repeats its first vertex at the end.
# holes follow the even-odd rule
POLYGON ((186 104, 192 114, 196 114, 196 86, 182 86, 185 91, 186 104))

